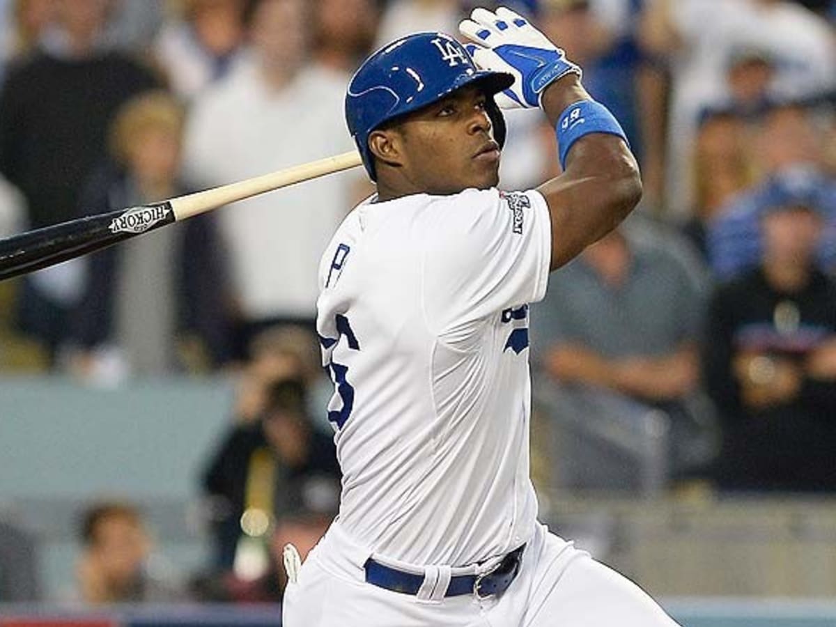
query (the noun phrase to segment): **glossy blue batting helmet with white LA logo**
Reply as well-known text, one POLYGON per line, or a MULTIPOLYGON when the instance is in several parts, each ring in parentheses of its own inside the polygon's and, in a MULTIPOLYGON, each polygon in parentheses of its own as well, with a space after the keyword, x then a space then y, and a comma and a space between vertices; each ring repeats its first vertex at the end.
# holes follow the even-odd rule
POLYGON ((359 67, 345 94, 345 120, 371 180, 377 180, 369 150, 373 130, 468 84, 485 90, 494 139, 502 146, 505 120, 492 96, 513 81, 511 74, 478 69, 461 43, 444 33, 415 33, 380 48, 359 67))

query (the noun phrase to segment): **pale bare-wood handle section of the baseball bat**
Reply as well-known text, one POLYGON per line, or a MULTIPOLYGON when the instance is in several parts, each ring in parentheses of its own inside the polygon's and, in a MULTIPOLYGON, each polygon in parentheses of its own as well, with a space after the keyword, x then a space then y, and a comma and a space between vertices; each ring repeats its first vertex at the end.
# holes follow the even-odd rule
POLYGON ((229 185, 213 187, 206 191, 197 191, 187 196, 172 198, 168 202, 174 210, 176 220, 185 220, 187 217, 208 212, 219 206, 241 201, 250 196, 263 194, 265 191, 278 190, 281 187, 308 181, 308 179, 313 179, 318 176, 349 170, 350 168, 359 166, 362 162, 359 152, 357 150, 351 150, 342 155, 334 155, 326 159, 320 159, 319 161, 311 161, 302 166, 271 172, 270 174, 247 179, 247 181, 238 181, 229 185))

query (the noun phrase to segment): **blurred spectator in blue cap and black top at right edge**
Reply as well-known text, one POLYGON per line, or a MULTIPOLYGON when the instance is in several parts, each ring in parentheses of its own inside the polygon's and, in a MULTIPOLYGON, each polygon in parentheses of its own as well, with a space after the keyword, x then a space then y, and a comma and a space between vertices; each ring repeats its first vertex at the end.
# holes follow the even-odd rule
POLYGON ((836 284, 815 262, 825 207, 812 191, 773 187, 758 213, 761 263, 711 302, 720 487, 836 489, 836 284))

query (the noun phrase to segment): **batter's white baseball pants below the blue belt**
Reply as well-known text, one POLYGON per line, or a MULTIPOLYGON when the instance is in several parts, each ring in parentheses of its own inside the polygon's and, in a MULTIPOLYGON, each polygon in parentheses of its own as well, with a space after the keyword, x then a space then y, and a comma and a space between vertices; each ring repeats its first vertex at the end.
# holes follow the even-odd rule
POLYGON ((650 596, 537 526, 499 599, 421 600, 365 582, 370 552, 334 523, 284 594, 283 627, 674 627, 650 596))

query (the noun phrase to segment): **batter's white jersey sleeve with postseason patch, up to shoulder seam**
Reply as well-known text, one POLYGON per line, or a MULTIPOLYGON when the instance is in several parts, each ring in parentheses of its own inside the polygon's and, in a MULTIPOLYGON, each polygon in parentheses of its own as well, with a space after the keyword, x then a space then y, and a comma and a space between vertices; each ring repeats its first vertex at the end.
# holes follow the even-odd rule
POLYGON ((434 203, 426 229, 423 302, 436 332, 545 296, 552 229, 538 191, 463 191, 434 203))

